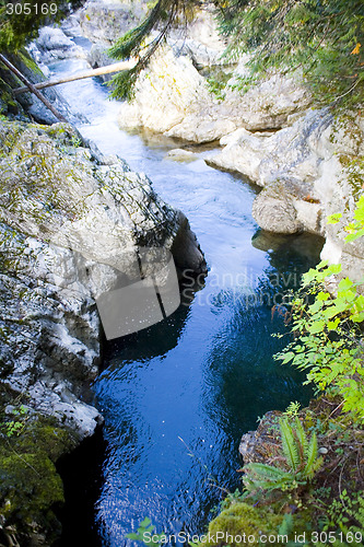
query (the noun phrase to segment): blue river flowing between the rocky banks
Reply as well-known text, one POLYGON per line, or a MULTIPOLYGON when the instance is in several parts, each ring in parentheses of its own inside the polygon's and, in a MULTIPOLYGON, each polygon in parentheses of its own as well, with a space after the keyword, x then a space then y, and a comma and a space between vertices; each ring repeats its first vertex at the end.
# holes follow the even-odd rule
MULTIPOLYGON (((54 63, 58 74, 82 60, 54 63)), ((166 153, 181 143, 130 135, 117 126, 119 104, 96 80, 61 88, 90 124, 81 132, 103 153, 145 172, 155 190, 188 217, 209 266, 204 287, 171 317, 111 341, 93 386, 105 417, 107 451, 96 502, 98 544, 121 547, 149 516, 157 531, 201 534, 226 491, 240 485, 238 443, 259 416, 307 403, 302 377, 273 360, 284 331, 274 294, 296 287, 316 264, 321 241, 272 236, 251 217, 257 188, 196 161, 166 153)), ((279 300, 278 300, 279 302, 279 300)))

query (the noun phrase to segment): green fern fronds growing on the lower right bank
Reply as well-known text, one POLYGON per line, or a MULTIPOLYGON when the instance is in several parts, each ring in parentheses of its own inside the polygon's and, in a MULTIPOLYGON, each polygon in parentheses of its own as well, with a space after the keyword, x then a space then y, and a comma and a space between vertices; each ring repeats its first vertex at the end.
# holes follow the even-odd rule
POLYGON ((306 485, 319 469, 317 438, 307 438, 298 417, 293 424, 287 419, 280 421, 282 456, 286 469, 268 464, 251 463, 244 466, 244 486, 249 492, 257 490, 294 490, 306 485))

